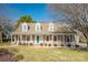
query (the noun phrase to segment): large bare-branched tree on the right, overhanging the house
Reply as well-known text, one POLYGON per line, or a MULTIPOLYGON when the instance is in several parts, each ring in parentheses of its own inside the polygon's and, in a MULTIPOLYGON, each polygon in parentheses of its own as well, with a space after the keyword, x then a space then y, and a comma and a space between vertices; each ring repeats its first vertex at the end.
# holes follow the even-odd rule
POLYGON ((59 19, 58 15, 62 13, 66 20, 71 22, 72 28, 77 29, 84 34, 88 46, 88 4, 87 3, 49 4, 48 8, 53 13, 52 18, 56 21, 58 21, 59 19))

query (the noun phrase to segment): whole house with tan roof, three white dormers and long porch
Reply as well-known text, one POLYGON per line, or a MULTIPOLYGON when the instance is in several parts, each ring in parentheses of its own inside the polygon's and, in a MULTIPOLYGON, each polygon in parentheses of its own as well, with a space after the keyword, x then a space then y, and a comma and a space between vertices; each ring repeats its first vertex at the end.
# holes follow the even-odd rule
POLYGON ((78 40, 77 33, 66 23, 21 23, 11 33, 12 44, 75 44, 78 40))

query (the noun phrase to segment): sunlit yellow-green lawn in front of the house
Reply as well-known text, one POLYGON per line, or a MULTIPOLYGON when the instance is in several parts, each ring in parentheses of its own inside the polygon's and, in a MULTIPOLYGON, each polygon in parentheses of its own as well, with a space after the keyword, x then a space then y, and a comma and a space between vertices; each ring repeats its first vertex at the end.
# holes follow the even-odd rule
POLYGON ((67 47, 36 47, 27 45, 0 46, 23 56, 21 62, 88 62, 88 52, 67 47))

